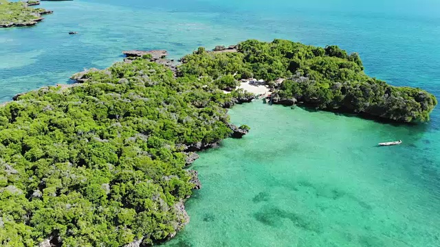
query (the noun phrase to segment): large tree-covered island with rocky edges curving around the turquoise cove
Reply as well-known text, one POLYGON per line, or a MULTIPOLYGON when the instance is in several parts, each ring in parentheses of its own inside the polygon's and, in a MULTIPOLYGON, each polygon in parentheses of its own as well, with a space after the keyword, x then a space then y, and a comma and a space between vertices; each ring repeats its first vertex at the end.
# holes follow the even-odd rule
POLYGON ((336 46, 248 40, 201 47, 178 67, 164 51, 125 54, 72 76, 81 83, 0 107, 2 246, 147 246, 174 237, 189 220, 185 200, 201 187, 188 170, 195 152, 250 130, 228 117, 255 97, 236 89, 240 79, 264 80, 274 102, 396 121, 428 121, 437 104, 421 89, 369 78, 357 54, 336 46))

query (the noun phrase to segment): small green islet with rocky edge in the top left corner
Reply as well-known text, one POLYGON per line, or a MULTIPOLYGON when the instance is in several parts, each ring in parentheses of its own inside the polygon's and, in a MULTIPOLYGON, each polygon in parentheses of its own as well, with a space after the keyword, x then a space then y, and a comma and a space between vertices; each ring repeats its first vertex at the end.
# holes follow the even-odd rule
POLYGON ((39 1, 10 2, 0 0, 0 27, 28 27, 43 21, 43 14, 52 14, 52 10, 32 8, 39 5, 39 1))

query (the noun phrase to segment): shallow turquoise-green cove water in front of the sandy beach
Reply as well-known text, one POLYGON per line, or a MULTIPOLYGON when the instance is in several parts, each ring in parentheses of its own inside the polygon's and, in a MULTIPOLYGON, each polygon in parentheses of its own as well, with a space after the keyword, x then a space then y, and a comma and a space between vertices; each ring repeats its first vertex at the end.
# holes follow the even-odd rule
POLYGON ((230 114, 251 132, 192 165, 202 189, 165 246, 437 246, 439 143, 417 126, 261 102, 230 114))

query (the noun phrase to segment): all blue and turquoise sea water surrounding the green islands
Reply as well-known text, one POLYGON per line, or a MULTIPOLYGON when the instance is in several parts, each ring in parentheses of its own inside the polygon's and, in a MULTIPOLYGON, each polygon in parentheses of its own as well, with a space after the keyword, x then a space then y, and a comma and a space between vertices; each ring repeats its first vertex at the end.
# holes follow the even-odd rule
MULTIPOLYGON (((437 0, 74 0, 35 27, 0 30, 0 102, 103 69, 126 49, 286 38, 358 51, 366 73, 440 99, 437 0), (69 31, 77 35, 67 34, 69 31)), ((201 153, 188 226, 165 246, 440 246, 440 106, 399 126, 253 102, 252 130, 201 153), (403 144, 378 148, 383 141, 403 144)))

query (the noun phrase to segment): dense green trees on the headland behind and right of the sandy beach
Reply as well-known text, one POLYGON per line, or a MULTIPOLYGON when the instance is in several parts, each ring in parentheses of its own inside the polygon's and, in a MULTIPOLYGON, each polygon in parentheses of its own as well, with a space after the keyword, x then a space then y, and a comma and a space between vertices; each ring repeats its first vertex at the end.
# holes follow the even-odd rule
MULTIPOLYGON (((220 78, 258 78, 274 85, 274 102, 300 102, 323 110, 364 113, 395 121, 428 121, 437 105, 421 89, 397 87, 364 73, 360 56, 336 45, 313 47, 289 40, 247 40, 238 53, 212 53, 203 48, 185 56, 181 73, 220 78), (275 84, 278 78, 287 78, 275 84)), ((219 83, 221 85, 221 83, 219 83)))

